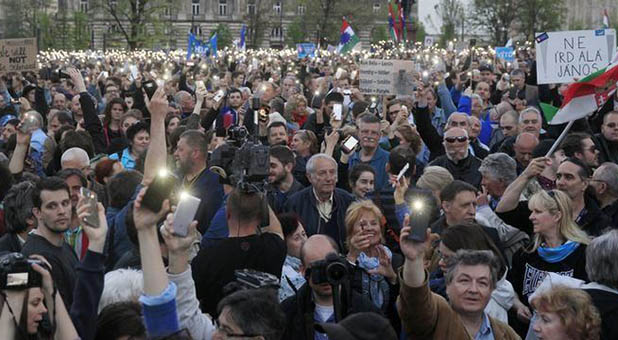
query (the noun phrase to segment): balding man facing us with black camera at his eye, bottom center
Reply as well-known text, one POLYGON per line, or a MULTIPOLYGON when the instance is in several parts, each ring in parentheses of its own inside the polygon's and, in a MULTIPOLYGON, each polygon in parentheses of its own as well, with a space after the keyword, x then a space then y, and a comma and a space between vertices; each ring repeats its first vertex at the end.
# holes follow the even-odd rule
MULTIPOLYGON (((328 282, 318 279, 317 276, 325 270, 325 260, 329 255, 339 252, 337 244, 332 238, 325 235, 314 235, 305 241, 300 250, 301 274, 305 276, 305 283, 296 293, 281 303, 285 312, 287 324, 284 339, 313 340, 313 329, 318 323, 335 323, 335 307, 333 301, 333 288, 328 282), (314 276, 316 277, 314 279, 314 276)), ((345 266, 345 260, 343 265, 345 266)), ((328 274, 327 274, 328 276, 328 274)), ((348 278, 344 278, 348 280, 348 278)), ((358 312, 376 312, 379 309, 366 297, 355 291, 341 292, 342 300, 347 300, 346 305, 341 305, 341 316, 345 317, 358 312)))

